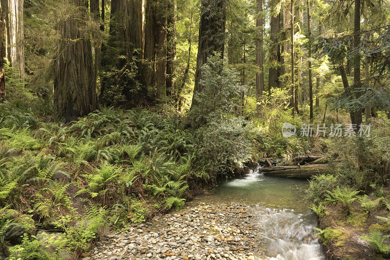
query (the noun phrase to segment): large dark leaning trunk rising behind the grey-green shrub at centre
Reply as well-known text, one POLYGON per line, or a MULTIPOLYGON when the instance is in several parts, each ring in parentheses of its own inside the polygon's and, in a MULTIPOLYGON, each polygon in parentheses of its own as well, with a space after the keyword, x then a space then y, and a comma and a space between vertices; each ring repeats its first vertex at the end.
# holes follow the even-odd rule
POLYGON ((223 58, 225 47, 226 0, 201 0, 195 86, 191 109, 197 105, 196 95, 203 92, 202 66, 214 51, 223 58))

